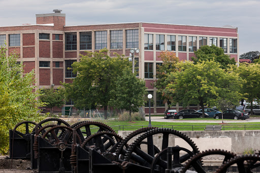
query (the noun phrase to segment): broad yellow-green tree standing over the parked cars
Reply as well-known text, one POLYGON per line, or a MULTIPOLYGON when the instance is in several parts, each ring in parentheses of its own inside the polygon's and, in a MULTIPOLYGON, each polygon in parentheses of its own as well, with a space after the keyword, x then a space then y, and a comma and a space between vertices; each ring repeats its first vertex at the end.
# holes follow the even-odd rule
POLYGON ((239 76, 226 73, 215 61, 202 61, 194 64, 191 61, 177 64, 178 71, 171 73, 167 94, 173 102, 181 102, 184 107, 199 104, 205 115, 204 106, 215 106, 219 98, 232 104, 239 102, 241 94, 239 76))

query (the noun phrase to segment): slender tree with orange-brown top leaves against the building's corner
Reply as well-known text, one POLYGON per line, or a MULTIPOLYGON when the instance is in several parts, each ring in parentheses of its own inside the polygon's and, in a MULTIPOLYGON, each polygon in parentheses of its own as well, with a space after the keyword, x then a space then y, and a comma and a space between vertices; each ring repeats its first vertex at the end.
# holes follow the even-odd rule
POLYGON ((174 52, 170 51, 162 51, 158 56, 163 63, 161 65, 156 66, 156 80, 153 83, 153 86, 156 87, 156 92, 161 93, 161 96, 168 103, 168 107, 170 107, 170 95, 166 94, 165 88, 168 85, 169 81, 168 75, 171 72, 176 71, 176 63, 179 62, 179 58, 176 57, 174 52))

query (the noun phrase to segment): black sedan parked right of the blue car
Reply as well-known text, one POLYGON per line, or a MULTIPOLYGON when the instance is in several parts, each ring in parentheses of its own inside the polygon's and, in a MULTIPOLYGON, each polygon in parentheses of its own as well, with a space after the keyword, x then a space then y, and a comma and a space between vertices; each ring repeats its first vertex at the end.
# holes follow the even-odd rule
MULTIPOLYGON (((215 114, 214 118, 215 119, 222 118, 221 113, 215 114)), ((249 118, 248 113, 245 113, 245 112, 242 112, 242 111, 239 111, 239 110, 226 110, 226 111, 223 112, 223 119, 245 120, 247 118, 249 118)))

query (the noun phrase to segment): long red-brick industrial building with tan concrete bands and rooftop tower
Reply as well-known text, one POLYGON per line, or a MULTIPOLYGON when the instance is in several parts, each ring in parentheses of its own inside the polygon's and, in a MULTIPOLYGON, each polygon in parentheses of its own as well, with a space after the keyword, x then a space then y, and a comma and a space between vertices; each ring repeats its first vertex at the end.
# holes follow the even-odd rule
MULTIPOLYGON (((232 26, 208 27, 160 23, 118 23, 99 25, 66 26, 66 15, 61 10, 37 14, 36 24, 0 27, 0 45, 6 42, 8 52, 20 54, 19 61, 25 65, 24 72, 35 69, 38 88, 57 88, 61 82, 71 82, 75 77, 68 67, 79 61, 84 51, 102 48, 127 57, 131 48, 135 53, 139 78, 146 80, 148 92, 153 95, 151 114, 162 114, 167 105, 151 86, 155 80, 156 64, 161 61, 161 51, 174 51, 180 60, 190 60, 193 51, 203 45, 222 47, 226 54, 239 62, 238 29, 232 26)), ((199 109, 199 106, 188 108, 199 109)), ((148 107, 145 112, 148 113, 148 107)), ((173 109, 183 109, 176 105, 173 109)))

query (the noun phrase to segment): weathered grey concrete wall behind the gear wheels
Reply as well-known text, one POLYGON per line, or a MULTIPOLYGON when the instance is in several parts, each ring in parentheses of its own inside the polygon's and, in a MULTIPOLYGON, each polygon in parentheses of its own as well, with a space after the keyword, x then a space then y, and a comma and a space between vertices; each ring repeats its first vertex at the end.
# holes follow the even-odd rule
MULTIPOLYGON (((126 137, 132 131, 118 131, 122 137, 126 137)), ((227 150, 236 154, 242 154, 245 149, 260 150, 260 130, 239 131, 181 131, 186 134, 198 146, 200 151, 210 149, 227 150)), ((153 136, 154 145, 161 143, 162 137, 153 136)), ((170 140, 169 146, 180 146, 189 149, 186 142, 179 137, 170 140)))

